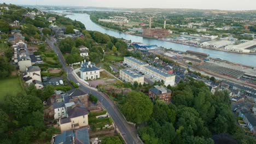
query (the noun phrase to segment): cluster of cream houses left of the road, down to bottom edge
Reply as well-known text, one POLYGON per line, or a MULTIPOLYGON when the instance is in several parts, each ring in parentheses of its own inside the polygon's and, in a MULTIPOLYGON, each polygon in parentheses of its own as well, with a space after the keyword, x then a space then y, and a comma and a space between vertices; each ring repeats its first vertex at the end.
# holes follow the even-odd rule
POLYGON ((55 91, 48 102, 48 114, 59 124, 61 134, 54 135, 51 143, 90 143, 88 133, 88 93, 80 89, 55 91))

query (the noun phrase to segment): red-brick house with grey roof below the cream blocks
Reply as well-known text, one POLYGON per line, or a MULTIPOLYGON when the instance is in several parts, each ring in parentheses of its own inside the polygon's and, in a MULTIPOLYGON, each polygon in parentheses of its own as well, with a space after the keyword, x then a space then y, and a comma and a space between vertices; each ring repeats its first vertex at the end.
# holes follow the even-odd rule
POLYGON ((153 88, 150 88, 148 92, 150 99, 160 99, 165 101, 166 103, 169 103, 171 101, 171 94, 172 91, 170 89, 160 86, 154 86, 153 88))

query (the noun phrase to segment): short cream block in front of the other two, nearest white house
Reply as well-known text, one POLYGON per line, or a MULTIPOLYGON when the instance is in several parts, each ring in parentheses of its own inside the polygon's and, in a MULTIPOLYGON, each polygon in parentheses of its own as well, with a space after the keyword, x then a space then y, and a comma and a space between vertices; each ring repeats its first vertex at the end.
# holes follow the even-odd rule
POLYGON ((119 77, 123 81, 131 82, 132 85, 135 81, 141 84, 144 83, 144 76, 139 75, 130 69, 120 69, 119 77))

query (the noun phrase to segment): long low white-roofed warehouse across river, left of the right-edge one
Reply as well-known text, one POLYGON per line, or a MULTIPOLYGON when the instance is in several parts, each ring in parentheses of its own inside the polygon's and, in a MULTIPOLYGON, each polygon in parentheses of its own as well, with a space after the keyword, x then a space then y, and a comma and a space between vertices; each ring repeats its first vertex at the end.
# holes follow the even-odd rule
POLYGON ((229 41, 229 40, 211 40, 211 41, 205 41, 202 43, 203 46, 210 46, 214 48, 220 48, 224 47, 227 45, 234 44, 234 41, 229 41))

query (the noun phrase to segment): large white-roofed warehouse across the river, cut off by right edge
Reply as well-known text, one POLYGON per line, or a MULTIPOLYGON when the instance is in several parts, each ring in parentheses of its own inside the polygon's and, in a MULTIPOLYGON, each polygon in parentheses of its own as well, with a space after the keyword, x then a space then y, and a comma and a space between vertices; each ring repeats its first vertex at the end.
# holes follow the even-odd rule
POLYGON ((229 45, 225 47, 225 50, 237 51, 237 52, 255 52, 256 50, 256 41, 250 40, 246 43, 238 45, 229 45))

